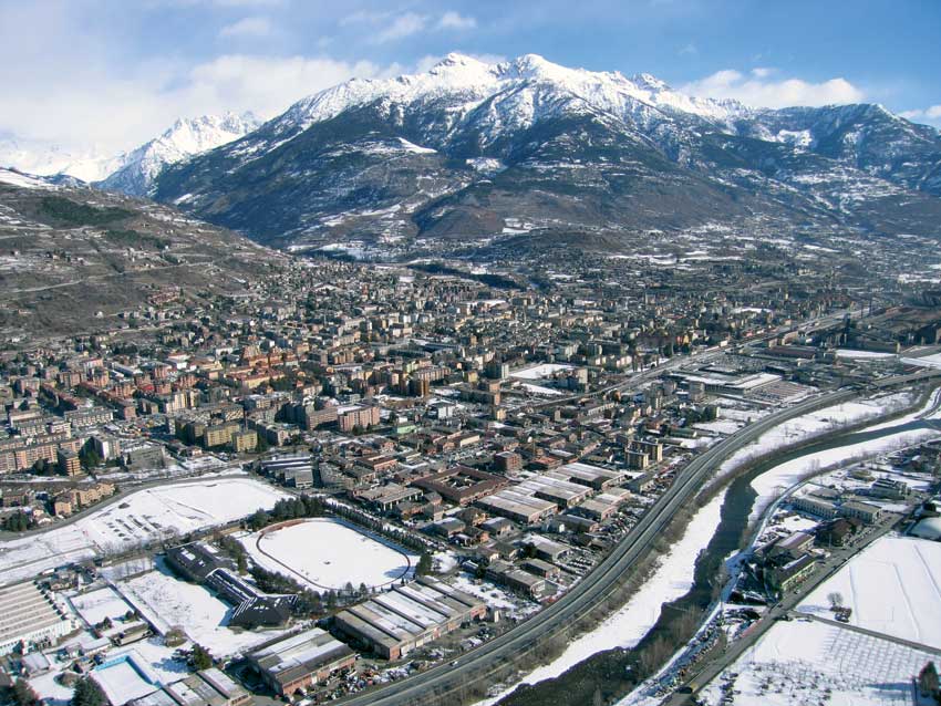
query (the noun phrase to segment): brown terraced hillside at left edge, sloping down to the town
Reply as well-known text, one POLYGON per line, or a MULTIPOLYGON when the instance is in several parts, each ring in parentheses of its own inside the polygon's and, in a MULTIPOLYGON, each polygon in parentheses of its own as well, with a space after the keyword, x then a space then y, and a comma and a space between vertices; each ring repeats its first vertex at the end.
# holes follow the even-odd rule
POLYGON ((179 211, 0 168, 0 345, 159 325, 287 256, 179 211), (153 310, 153 311, 151 311, 153 310))

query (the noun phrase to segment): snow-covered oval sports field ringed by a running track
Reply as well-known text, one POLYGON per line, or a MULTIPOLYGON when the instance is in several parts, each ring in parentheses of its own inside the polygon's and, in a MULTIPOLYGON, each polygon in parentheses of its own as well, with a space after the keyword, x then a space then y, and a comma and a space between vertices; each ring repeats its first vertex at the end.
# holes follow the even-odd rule
POLYGON ((301 579, 317 591, 393 583, 418 557, 334 519, 317 518, 241 539, 252 560, 301 579))

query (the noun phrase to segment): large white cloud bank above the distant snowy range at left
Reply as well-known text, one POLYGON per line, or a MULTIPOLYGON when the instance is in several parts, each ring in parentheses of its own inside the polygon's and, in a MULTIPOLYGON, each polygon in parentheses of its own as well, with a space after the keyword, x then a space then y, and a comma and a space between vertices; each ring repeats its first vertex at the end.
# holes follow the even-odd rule
MULTIPOLYGON (((61 65, 61 64, 60 64, 61 65)), ((24 79, 0 92, 0 133, 63 148, 95 146, 105 154, 131 149, 177 117, 254 111, 277 115, 293 102, 351 79, 401 72, 397 64, 330 58, 226 54, 182 66, 152 63, 130 76, 87 65, 24 79)))

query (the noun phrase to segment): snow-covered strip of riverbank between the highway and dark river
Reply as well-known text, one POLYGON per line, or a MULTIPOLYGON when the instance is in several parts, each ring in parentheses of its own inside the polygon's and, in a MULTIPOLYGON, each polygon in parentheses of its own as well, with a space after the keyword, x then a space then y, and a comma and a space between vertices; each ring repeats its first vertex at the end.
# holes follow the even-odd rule
POLYGON ((573 640, 565 652, 547 665, 525 675, 519 682, 477 706, 492 706, 517 684, 536 684, 559 676, 597 652, 614 647, 632 647, 653 627, 663 603, 673 601, 690 590, 696 558, 709 544, 721 519, 725 494, 713 498, 690 521, 683 537, 663 557, 653 575, 618 612, 598 627, 573 640))

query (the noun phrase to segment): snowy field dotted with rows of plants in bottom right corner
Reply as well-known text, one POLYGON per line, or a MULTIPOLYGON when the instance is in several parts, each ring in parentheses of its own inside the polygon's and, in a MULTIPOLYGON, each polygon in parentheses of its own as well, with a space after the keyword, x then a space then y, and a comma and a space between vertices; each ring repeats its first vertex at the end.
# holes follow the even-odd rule
POLYGON ((780 622, 700 696, 709 706, 903 706, 912 677, 937 660, 845 627, 780 622))

